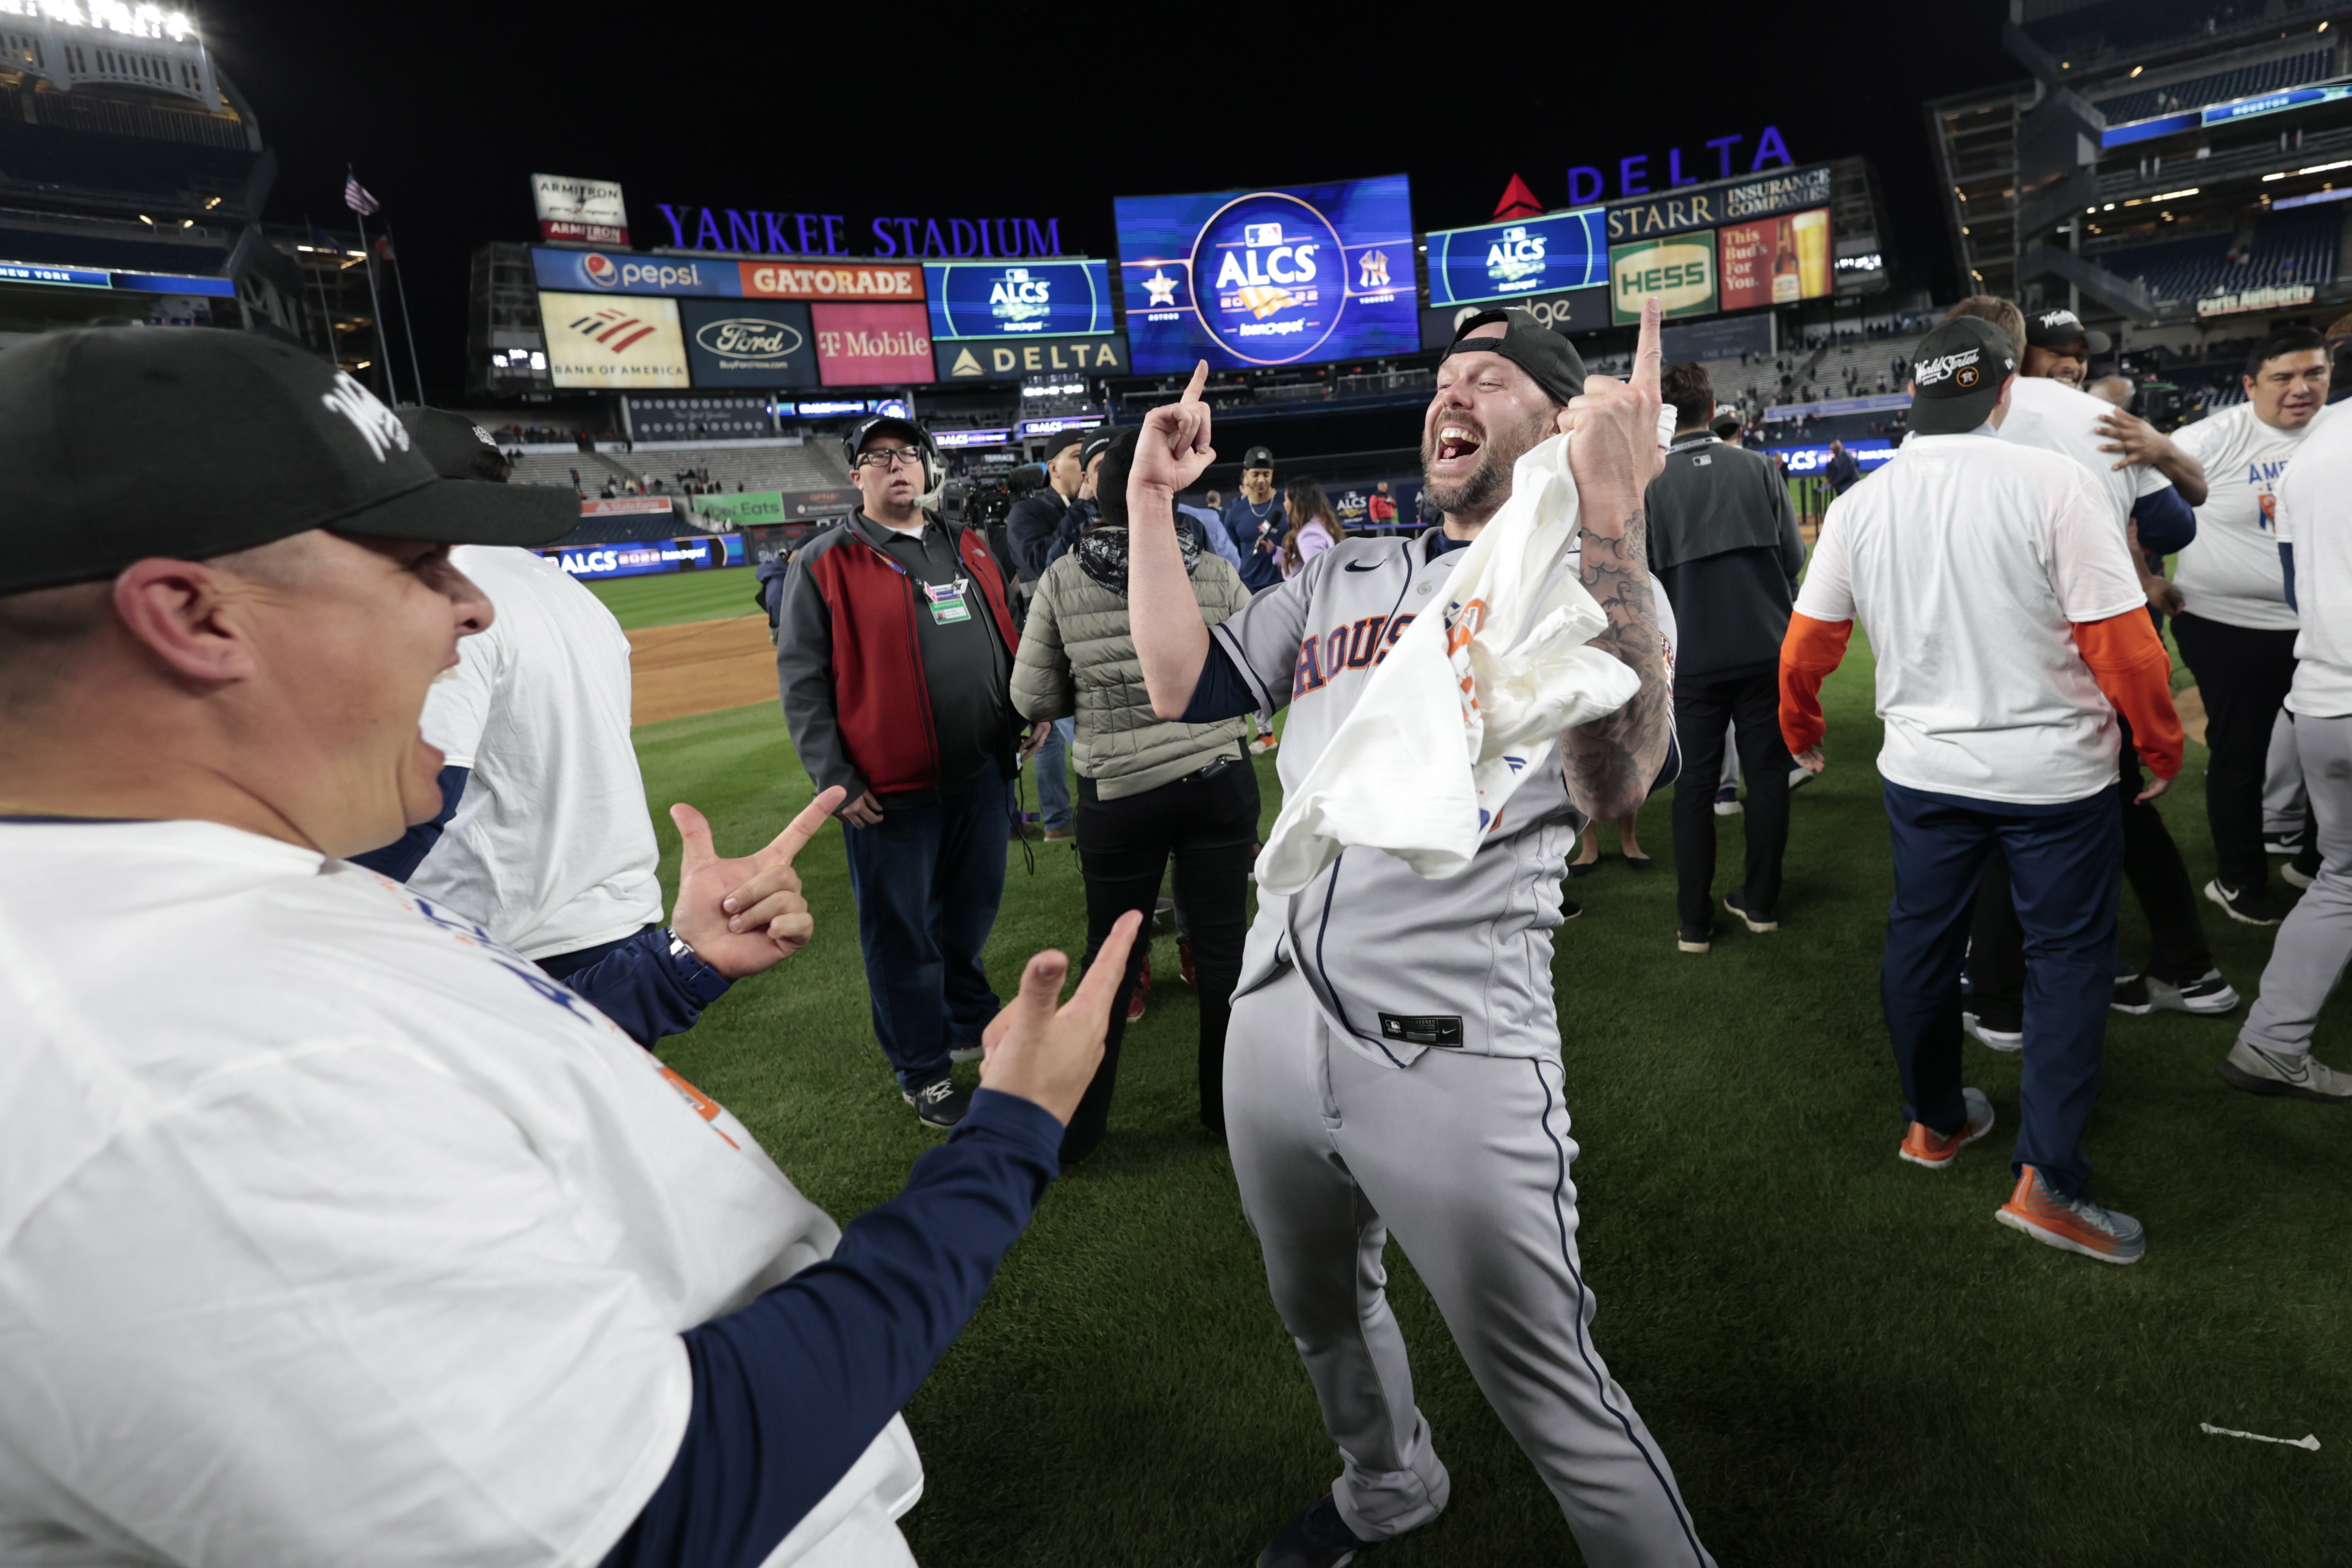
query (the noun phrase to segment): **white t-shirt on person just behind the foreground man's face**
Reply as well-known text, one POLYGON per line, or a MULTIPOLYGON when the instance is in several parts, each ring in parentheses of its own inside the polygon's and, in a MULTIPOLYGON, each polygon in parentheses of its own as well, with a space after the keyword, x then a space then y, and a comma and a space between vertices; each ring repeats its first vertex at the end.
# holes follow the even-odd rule
POLYGON ((656 924, 661 849, 628 738, 621 623, 529 550, 449 557, 496 616, 426 693, 426 741, 473 778, 409 886, 529 959, 656 924))

